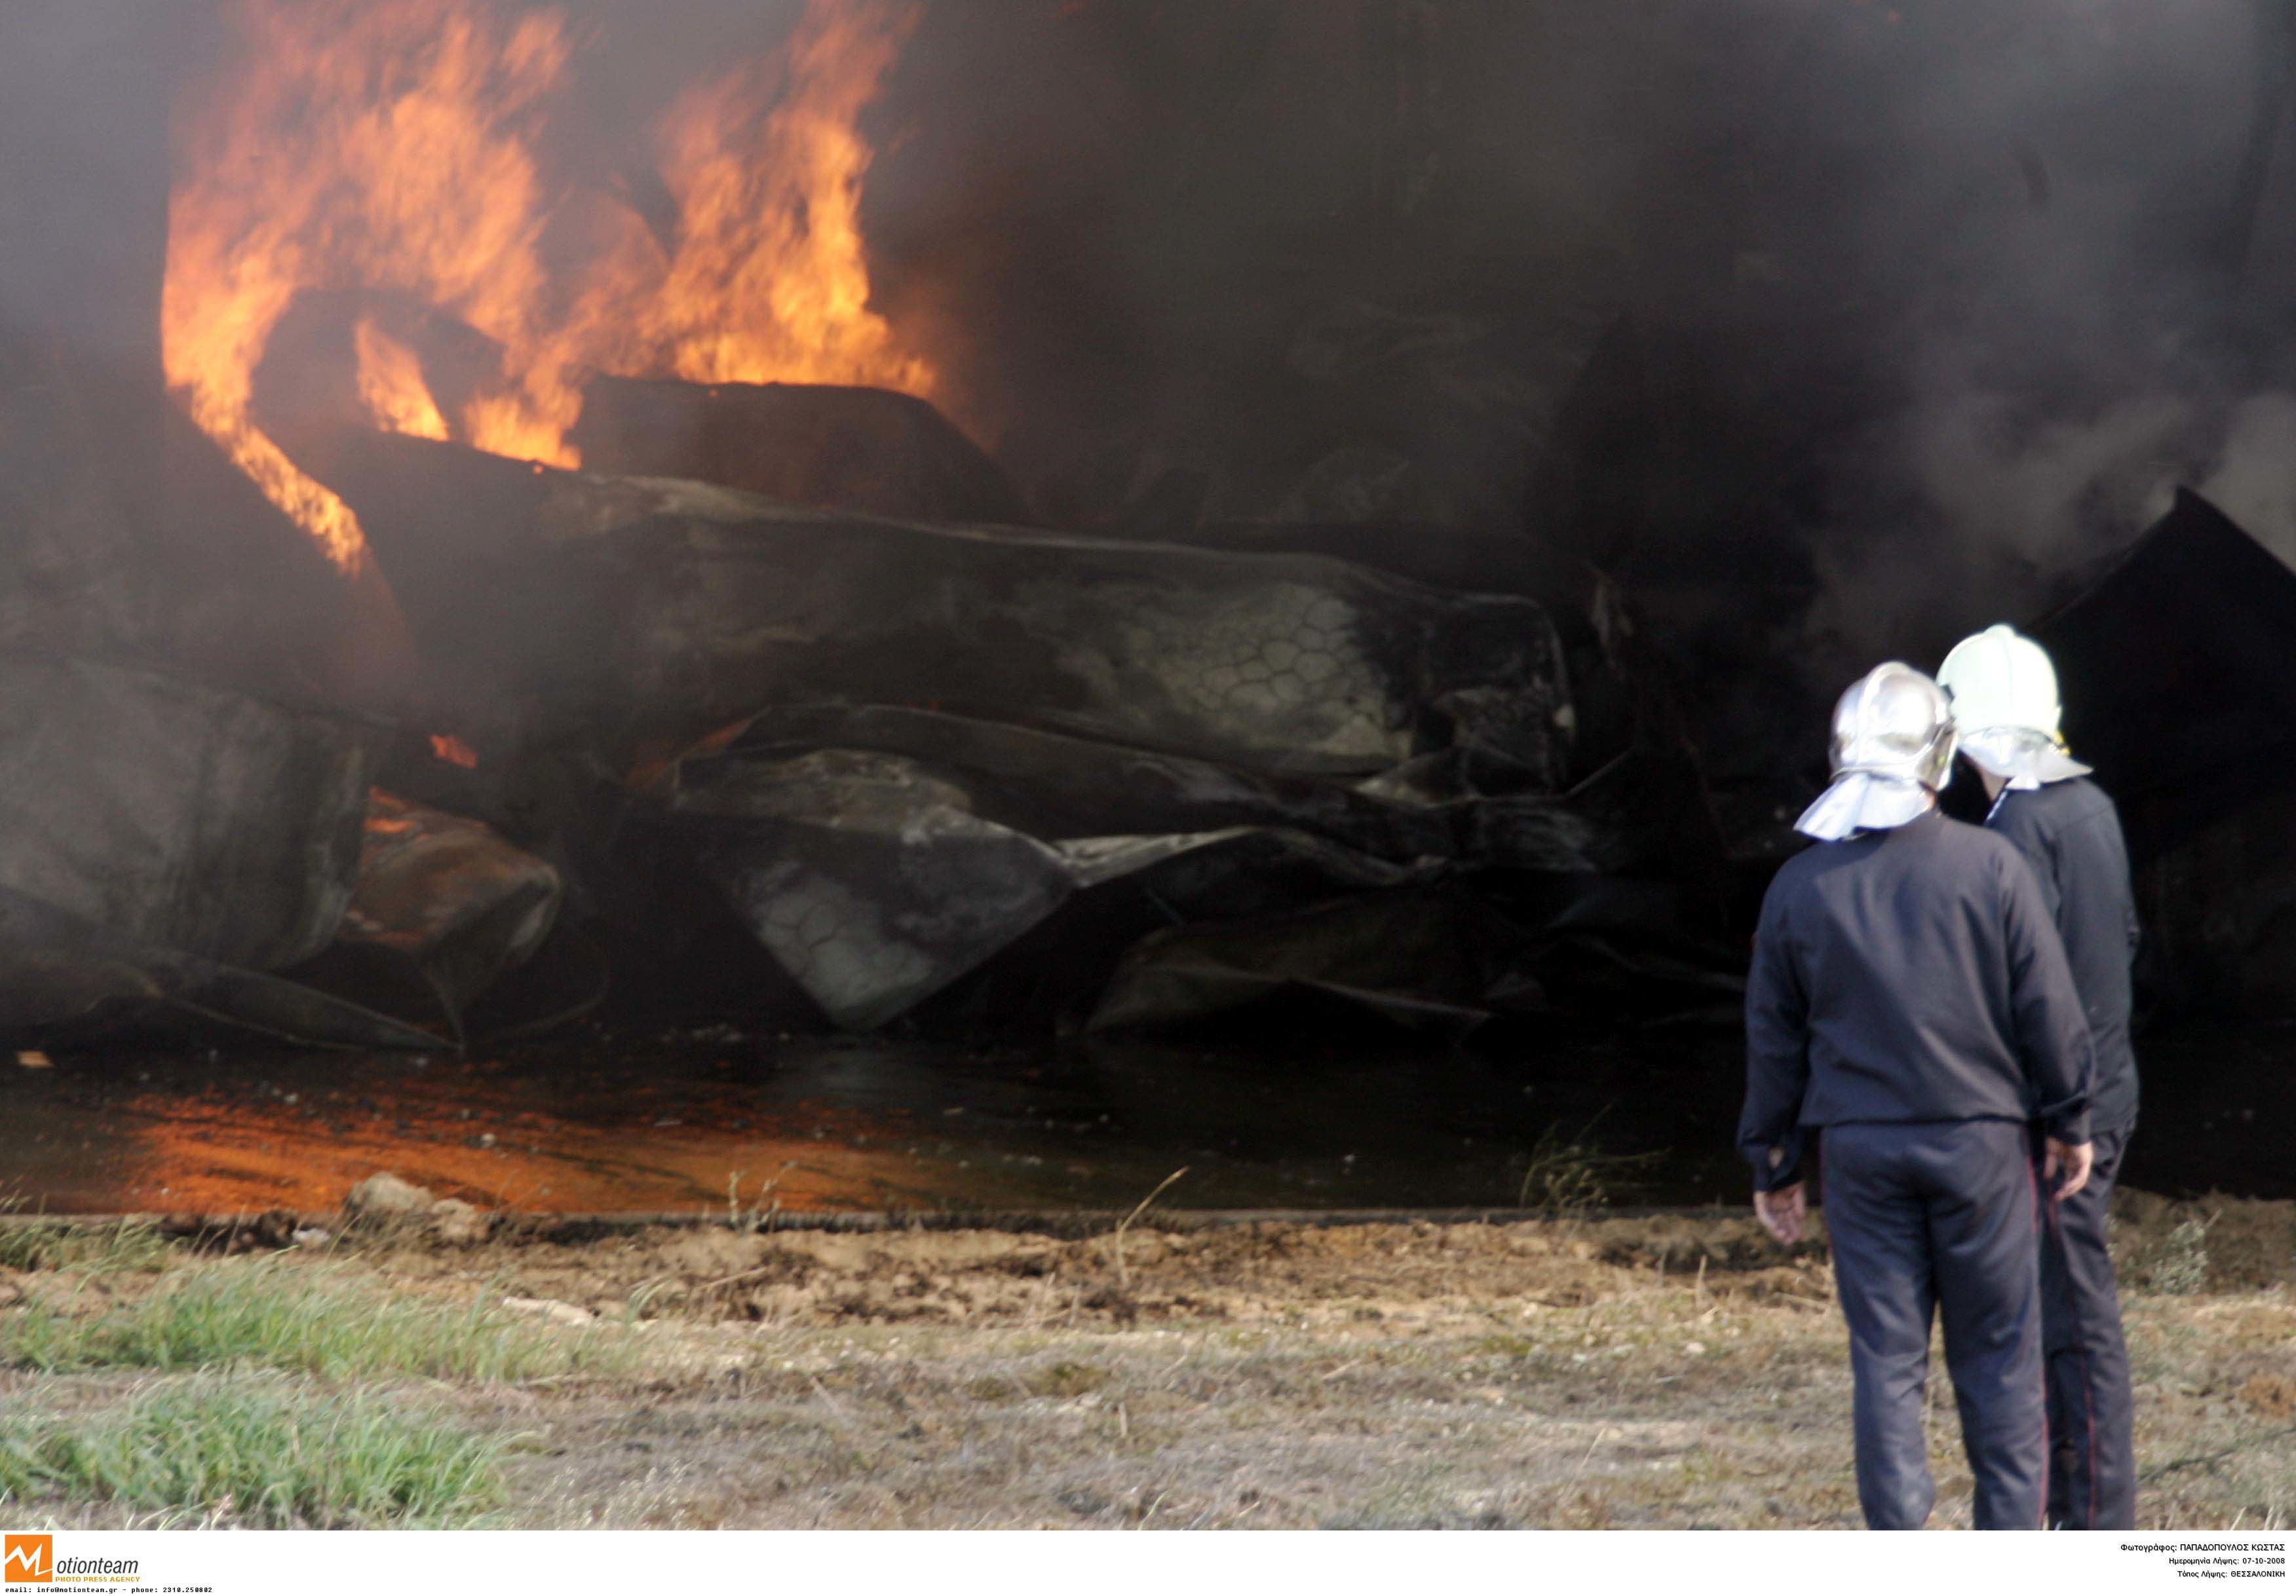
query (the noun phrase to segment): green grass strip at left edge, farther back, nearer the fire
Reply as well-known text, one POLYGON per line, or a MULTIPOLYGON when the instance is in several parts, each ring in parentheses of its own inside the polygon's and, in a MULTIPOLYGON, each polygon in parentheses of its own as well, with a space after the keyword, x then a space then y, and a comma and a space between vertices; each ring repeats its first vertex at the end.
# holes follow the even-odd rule
POLYGON ((257 1364, 328 1380, 517 1382, 615 1373, 631 1353, 611 1327, 546 1330, 484 1297, 455 1309, 285 1261, 181 1270, 145 1297, 101 1311, 83 1311, 69 1295, 34 1295, 0 1316, 0 1364, 41 1371, 257 1364))

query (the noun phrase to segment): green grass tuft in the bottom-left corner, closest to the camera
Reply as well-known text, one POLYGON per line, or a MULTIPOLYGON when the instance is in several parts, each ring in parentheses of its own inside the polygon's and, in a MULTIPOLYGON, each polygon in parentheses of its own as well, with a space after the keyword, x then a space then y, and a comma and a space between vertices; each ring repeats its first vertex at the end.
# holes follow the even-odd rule
POLYGON ((501 1504, 498 1440, 374 1396, 193 1380, 96 1417, 0 1419, 0 1502, 264 1527, 452 1527, 501 1504))

